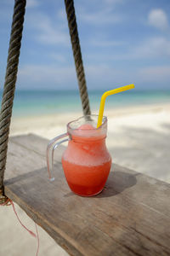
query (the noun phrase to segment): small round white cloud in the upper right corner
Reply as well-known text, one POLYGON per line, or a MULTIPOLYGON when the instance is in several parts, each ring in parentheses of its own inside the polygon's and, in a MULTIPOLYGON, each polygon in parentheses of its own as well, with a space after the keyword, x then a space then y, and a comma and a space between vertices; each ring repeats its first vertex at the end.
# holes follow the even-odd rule
POLYGON ((152 9, 148 15, 148 22, 161 30, 166 30, 168 27, 167 15, 162 9, 152 9))

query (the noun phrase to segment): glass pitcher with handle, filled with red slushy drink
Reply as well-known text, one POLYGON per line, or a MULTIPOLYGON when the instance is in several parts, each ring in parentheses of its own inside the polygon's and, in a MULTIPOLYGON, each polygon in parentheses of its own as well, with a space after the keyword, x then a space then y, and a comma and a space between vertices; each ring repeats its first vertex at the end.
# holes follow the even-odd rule
POLYGON ((48 143, 48 176, 53 181, 54 150, 59 144, 68 141, 62 155, 62 166, 70 189, 77 195, 99 194, 111 170, 111 155, 105 146, 107 118, 103 117, 99 128, 96 128, 97 122, 98 115, 71 121, 67 124, 67 133, 54 137, 48 143))

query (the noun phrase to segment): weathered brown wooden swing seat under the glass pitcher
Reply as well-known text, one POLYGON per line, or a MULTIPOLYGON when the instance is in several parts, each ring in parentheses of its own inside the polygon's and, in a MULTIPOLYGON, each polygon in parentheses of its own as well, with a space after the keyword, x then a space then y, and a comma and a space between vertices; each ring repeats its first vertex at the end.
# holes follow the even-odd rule
POLYGON ((62 167, 48 181, 48 141, 13 137, 5 193, 71 255, 169 255, 170 186, 114 165, 105 190, 93 198, 71 193, 62 167))

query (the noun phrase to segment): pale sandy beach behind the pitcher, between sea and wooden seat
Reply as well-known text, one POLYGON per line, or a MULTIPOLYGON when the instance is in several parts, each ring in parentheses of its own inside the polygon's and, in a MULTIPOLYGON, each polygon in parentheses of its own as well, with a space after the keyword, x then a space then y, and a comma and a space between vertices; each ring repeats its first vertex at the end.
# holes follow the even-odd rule
MULTIPOLYGON (((170 104, 105 110, 107 146, 113 163, 170 182, 170 104)), ((82 113, 58 113, 12 119, 10 136, 35 133, 51 139, 65 133, 68 121, 82 113)))

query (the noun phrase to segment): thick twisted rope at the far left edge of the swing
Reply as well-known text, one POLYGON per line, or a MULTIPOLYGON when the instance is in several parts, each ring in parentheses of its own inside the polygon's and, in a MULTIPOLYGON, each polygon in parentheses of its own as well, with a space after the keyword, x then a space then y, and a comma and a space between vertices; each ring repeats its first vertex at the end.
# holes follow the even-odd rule
POLYGON ((26 0, 14 1, 14 15, 8 48, 8 61, 0 115, 0 203, 6 199, 3 193, 3 177, 7 158, 8 133, 13 108, 15 83, 17 79, 25 9, 26 0))

